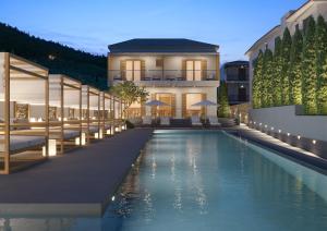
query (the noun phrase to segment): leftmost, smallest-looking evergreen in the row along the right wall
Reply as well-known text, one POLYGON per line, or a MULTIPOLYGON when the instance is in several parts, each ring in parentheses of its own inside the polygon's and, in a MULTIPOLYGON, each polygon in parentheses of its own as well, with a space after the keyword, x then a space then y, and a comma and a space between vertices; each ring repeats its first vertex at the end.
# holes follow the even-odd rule
POLYGON ((254 74, 252 80, 252 104, 253 108, 262 107, 262 78, 264 68, 264 54, 261 50, 257 59, 254 61, 254 74))

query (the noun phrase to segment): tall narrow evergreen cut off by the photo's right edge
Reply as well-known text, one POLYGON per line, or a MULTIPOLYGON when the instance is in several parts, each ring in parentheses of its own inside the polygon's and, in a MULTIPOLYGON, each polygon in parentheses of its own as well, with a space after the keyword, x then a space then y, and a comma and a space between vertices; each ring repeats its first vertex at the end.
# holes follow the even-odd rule
POLYGON ((317 109, 327 114, 327 25, 322 15, 316 25, 317 109))

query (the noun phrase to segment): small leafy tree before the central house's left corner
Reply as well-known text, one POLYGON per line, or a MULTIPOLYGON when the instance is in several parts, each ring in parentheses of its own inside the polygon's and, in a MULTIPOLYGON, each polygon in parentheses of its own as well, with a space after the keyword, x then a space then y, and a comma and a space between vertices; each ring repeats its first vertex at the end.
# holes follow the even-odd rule
POLYGON ((125 104, 126 107, 124 111, 130 108, 133 102, 145 101, 148 96, 144 87, 138 87, 131 81, 125 81, 113 86, 110 92, 125 104))

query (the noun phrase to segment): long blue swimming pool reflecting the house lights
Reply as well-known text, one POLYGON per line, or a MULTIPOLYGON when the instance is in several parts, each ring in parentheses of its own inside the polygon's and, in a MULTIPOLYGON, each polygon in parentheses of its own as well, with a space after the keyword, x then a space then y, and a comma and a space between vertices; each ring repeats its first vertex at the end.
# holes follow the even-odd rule
POLYGON ((102 218, 7 217, 0 230, 326 230, 327 177, 216 131, 158 130, 102 218))

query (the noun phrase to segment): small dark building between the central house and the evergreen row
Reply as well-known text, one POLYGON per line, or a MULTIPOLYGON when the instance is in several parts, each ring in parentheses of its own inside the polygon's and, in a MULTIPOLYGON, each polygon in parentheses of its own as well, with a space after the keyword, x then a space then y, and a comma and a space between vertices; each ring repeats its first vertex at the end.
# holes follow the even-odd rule
POLYGON ((227 62, 221 69, 221 78, 227 84, 230 105, 240 105, 249 101, 249 62, 227 62))

